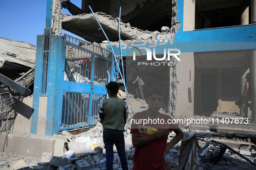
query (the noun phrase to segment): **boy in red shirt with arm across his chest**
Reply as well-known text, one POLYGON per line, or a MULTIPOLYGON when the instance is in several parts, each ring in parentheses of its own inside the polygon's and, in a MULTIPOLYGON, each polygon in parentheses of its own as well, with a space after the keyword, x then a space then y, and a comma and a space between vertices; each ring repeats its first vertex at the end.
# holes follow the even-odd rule
POLYGON ((160 89, 150 88, 145 97, 148 110, 136 113, 132 119, 133 170, 166 170, 165 154, 183 138, 183 133, 171 123, 171 116, 159 113, 163 104, 160 89), (172 131, 176 135, 166 144, 172 131))

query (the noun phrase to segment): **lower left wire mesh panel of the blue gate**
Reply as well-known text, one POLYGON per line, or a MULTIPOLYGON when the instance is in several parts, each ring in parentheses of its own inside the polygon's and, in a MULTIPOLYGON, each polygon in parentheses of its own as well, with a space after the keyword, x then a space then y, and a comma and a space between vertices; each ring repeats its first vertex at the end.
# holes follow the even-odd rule
POLYGON ((63 92, 61 128, 89 125, 90 94, 63 92))

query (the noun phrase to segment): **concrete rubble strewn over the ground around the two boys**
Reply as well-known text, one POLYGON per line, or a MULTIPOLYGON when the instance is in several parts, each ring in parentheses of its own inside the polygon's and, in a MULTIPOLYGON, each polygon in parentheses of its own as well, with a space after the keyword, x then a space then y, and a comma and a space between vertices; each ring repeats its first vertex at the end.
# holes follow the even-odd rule
MULTIPOLYGON (((119 97, 125 98, 125 93, 119 91, 119 97)), ((133 95, 130 95, 130 99, 133 102, 133 109, 135 112, 143 111, 147 109, 147 104, 143 101, 136 101, 133 98, 133 95), (145 105, 145 107, 141 107, 145 105)), ((129 103, 129 102, 128 102, 129 103)), ((131 106, 129 105, 131 112, 131 106)), ((165 113, 164 110, 161 110, 162 113, 165 113)), ((130 114, 131 117, 132 114, 130 114)), ((128 121, 129 122, 129 121, 128 121)), ((230 136, 227 133, 212 133, 212 132, 184 132, 185 136, 197 135, 201 138, 213 138, 214 135, 218 136, 217 138, 224 138, 224 136, 230 136)), ((232 135, 234 137, 239 137, 240 134, 232 135)), ((168 137, 168 142, 172 140, 175 136, 174 132, 171 132, 168 137)), ((248 136, 242 134, 242 136, 248 136)), ((254 135, 249 135, 249 137, 254 137, 254 135)), ((106 168, 106 151, 104 148, 103 142, 103 127, 100 123, 97 123, 96 126, 91 127, 86 132, 79 133, 77 135, 72 135, 70 132, 64 130, 59 135, 53 135, 52 138, 57 138, 56 145, 58 145, 58 151, 54 151, 54 154, 44 152, 41 159, 34 157, 25 157, 16 154, 7 154, 0 153, 0 169, 10 169, 16 170, 17 168, 22 169, 52 169, 52 170, 103 170, 106 168), (86 143, 83 143, 83 140, 86 139, 86 143), (75 141, 80 141, 79 145, 84 145, 84 147, 77 148, 78 150, 72 151, 71 146, 75 141), (85 147, 86 145, 86 147, 85 147), (84 151, 84 148, 87 148, 87 151, 84 151), (89 149, 89 150, 88 150, 89 149), (79 153, 79 154, 78 154, 79 153), (58 154, 58 156, 56 155, 58 154), (67 158, 69 157, 69 158, 67 158), (22 160, 22 161, 19 161, 22 160), (18 162, 19 161, 19 162, 18 162), (65 169, 66 168, 66 169, 65 169)), ((132 136, 130 133, 129 123, 125 127, 124 132, 125 138, 125 147, 126 147, 126 157, 129 170, 133 167, 133 154, 134 148, 132 145, 132 136)), ((216 138, 216 137, 215 137, 216 138)), ((184 140, 183 140, 184 142, 184 140)), ((203 141, 198 141, 200 148, 203 148, 207 143, 203 141)), ((115 170, 121 169, 120 159, 117 154, 117 149, 114 146, 114 160, 113 167, 115 170)), ((178 170, 180 158, 180 149, 181 142, 175 145, 166 155, 166 166, 167 169, 176 169, 178 170)), ((56 149, 55 149, 56 150, 56 149)), ((194 148, 196 154, 198 154, 199 149, 194 148)), ((255 166, 245 161, 242 157, 234 154, 233 151, 227 149, 223 156, 220 156, 221 147, 218 145, 207 145, 207 147, 198 155, 198 170, 222 170, 222 169, 232 169, 239 170, 243 169, 253 169, 255 166), (214 162, 213 158, 219 156, 220 159, 214 162)), ((181 154, 182 155, 182 154, 181 154)), ((256 162, 255 155, 246 156, 250 161, 256 162)), ((195 164, 195 163, 193 163, 195 164)))

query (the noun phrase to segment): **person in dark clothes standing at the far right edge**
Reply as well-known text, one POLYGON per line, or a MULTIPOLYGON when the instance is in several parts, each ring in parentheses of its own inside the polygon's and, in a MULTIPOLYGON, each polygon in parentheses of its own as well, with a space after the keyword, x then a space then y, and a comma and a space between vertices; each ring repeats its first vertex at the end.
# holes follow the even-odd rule
POLYGON ((244 104, 243 104, 243 112, 244 112, 244 118, 248 118, 248 102, 251 99, 251 73, 248 72, 245 76, 245 84, 244 84, 244 90, 242 94, 242 98, 244 98, 244 104))

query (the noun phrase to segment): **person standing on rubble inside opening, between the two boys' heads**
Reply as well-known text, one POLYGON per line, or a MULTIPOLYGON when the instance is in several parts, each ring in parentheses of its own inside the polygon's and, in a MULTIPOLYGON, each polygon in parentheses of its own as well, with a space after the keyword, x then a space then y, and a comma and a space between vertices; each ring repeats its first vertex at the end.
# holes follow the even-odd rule
POLYGON ((136 83, 137 87, 136 87, 136 94, 134 95, 134 98, 136 101, 140 101, 140 99, 142 101, 144 101, 144 95, 143 95, 143 86, 144 86, 144 82, 142 80, 142 75, 139 72, 139 69, 136 68, 135 69, 135 73, 136 73, 136 80, 134 80, 133 84, 136 83))

